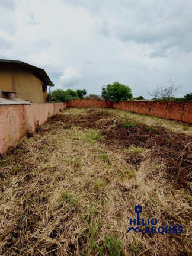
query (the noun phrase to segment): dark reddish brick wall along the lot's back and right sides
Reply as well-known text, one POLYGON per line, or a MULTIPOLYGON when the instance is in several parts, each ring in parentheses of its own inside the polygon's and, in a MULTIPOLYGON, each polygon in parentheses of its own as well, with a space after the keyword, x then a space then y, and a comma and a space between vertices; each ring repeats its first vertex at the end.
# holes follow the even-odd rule
POLYGON ((104 107, 192 123, 192 101, 113 101, 73 99, 67 107, 104 107))

